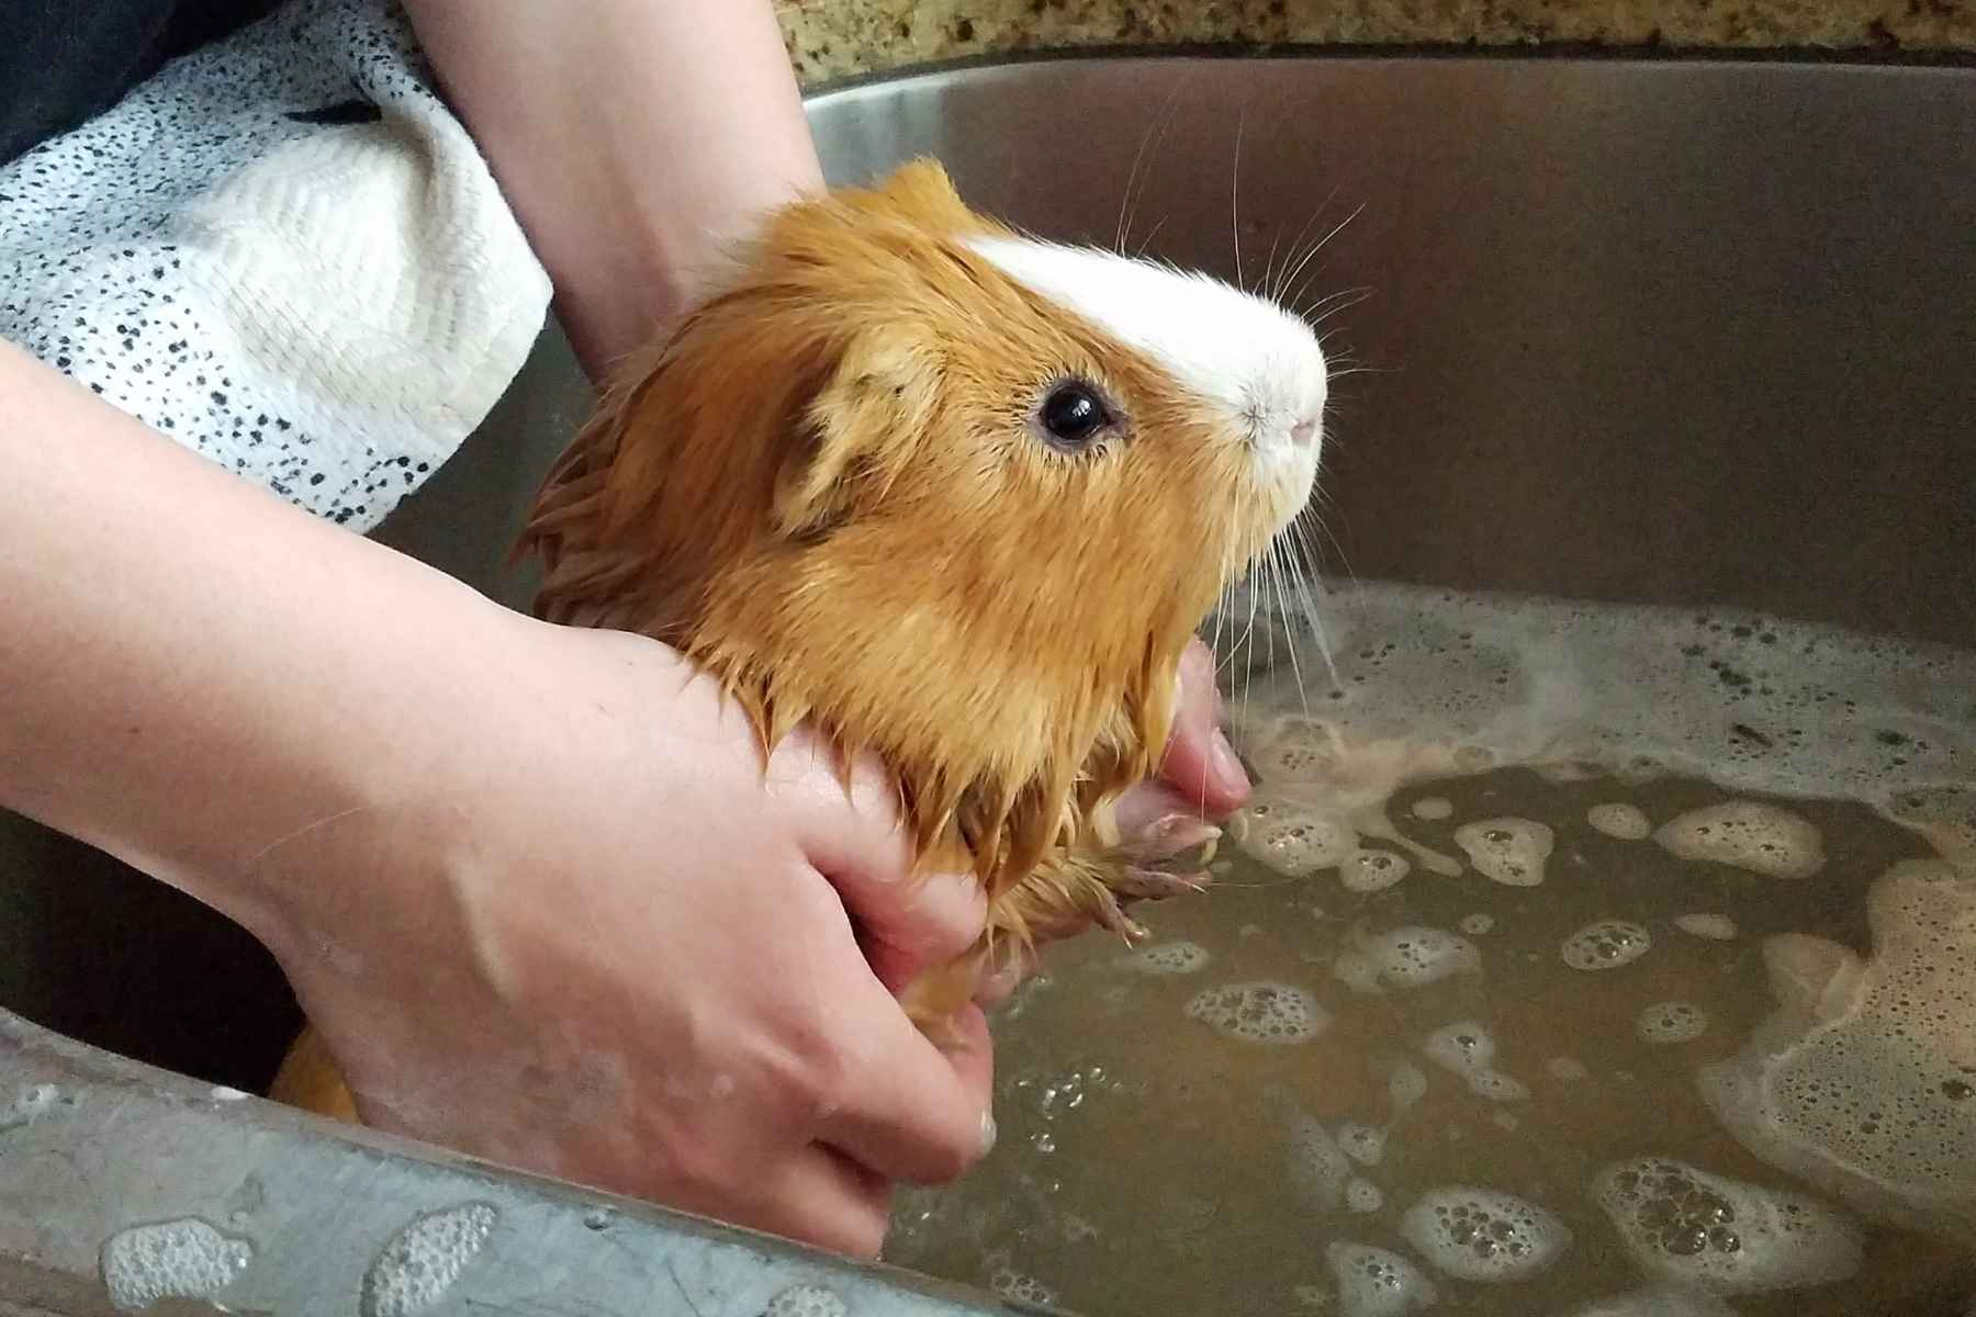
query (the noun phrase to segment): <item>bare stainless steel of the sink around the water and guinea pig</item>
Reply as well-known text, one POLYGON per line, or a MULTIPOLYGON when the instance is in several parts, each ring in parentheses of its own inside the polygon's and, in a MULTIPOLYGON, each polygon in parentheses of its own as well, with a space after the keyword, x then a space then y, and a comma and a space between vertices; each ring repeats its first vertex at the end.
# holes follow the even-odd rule
MULTIPOLYGON (((1053 237, 1112 243, 1130 184, 1134 247, 1227 276, 1239 247, 1249 282, 1336 229, 1310 296, 1340 294, 1326 330, 1363 369, 1336 389, 1334 569, 1976 646, 1976 69, 1043 59, 842 87, 812 118, 834 180, 931 152, 1053 237)), ((377 537, 524 604, 500 561, 587 401, 551 328, 377 537)), ((808 1281, 858 1313, 994 1307, 215 1100, 296 1023, 269 958, 12 817, 0 918, 12 1305, 107 1311, 105 1240, 198 1216, 253 1242, 229 1307, 350 1311, 395 1230, 472 1199, 500 1212, 456 1309, 747 1317, 808 1281)))

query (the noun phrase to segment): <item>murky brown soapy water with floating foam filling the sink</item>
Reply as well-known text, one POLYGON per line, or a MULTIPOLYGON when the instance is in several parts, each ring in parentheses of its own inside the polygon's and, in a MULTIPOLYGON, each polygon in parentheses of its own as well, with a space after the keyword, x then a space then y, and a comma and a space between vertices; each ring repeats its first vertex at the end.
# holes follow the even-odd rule
POLYGON ((1002 1143, 887 1260, 1095 1317, 1976 1311, 1976 654, 1383 588, 1332 648, 1235 683, 1215 885, 1049 950, 1002 1143))

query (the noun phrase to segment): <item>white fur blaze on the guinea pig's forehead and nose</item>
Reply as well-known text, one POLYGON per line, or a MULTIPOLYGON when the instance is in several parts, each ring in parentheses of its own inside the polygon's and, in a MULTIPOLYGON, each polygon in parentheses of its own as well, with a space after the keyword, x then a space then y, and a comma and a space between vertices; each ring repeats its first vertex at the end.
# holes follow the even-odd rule
POLYGON ((1328 369, 1318 336, 1290 312, 1209 274, 1097 247, 1024 237, 978 237, 968 247, 1146 353, 1225 411, 1259 452, 1316 460, 1328 369))

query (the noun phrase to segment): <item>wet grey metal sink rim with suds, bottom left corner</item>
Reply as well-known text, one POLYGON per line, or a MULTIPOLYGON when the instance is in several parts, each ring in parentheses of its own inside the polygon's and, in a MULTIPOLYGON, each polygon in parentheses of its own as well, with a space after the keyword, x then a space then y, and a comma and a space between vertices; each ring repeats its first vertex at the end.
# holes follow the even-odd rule
POLYGON ((992 1297, 862 1268, 207 1084, 0 1017, 0 1301, 75 1317, 964 1317, 992 1297), (784 1295, 794 1293, 800 1303, 784 1295), (976 1301, 978 1299, 978 1301, 976 1301))

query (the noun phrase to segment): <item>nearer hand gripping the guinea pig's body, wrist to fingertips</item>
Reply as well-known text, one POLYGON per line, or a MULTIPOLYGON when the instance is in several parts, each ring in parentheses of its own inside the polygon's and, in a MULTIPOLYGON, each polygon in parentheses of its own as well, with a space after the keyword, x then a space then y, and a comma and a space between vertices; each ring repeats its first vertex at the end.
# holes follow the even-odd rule
POLYGON ((976 885, 905 883, 875 764, 846 800, 798 733, 763 774, 672 650, 500 616, 397 746, 403 796, 257 861, 362 1118, 875 1256, 891 1183, 992 1139, 980 1013, 943 1054, 889 991, 976 940, 976 885))

